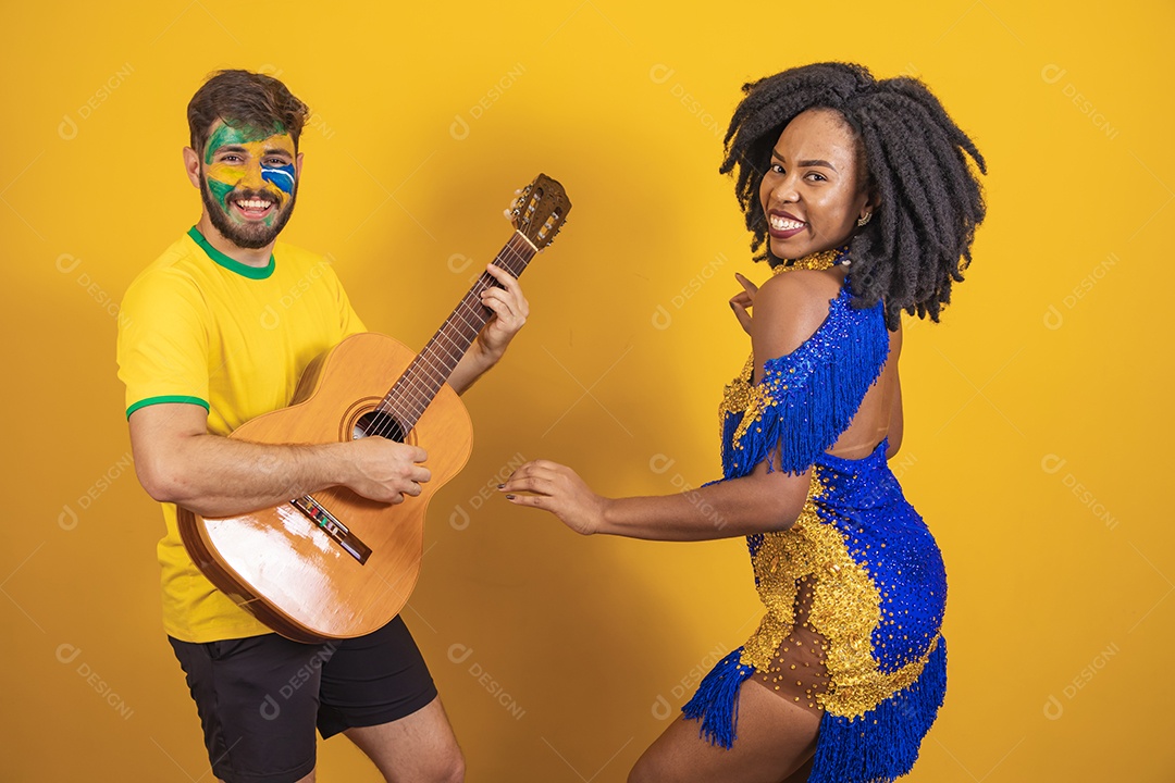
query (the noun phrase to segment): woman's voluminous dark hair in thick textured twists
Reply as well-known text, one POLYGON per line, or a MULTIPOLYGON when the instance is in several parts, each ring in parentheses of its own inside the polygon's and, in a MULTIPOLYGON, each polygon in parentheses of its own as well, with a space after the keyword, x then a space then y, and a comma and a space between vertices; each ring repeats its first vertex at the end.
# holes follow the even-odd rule
POLYGON ((886 324, 898 329, 902 310, 939 319, 952 282, 971 263, 983 195, 964 153, 987 174, 983 156, 916 79, 874 80, 868 69, 844 62, 791 68, 743 86, 724 140, 737 168, 734 193, 753 234, 756 261, 778 262, 765 247, 767 218, 759 184, 784 128, 807 109, 832 109, 864 148, 866 188, 878 202, 873 220, 850 241, 853 304, 885 302, 886 324))

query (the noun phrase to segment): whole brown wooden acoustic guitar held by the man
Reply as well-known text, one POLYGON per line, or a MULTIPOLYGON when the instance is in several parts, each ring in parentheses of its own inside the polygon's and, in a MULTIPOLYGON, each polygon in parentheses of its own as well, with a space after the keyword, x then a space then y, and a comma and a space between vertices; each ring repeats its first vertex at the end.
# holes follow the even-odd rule
MULTIPOLYGON (((539 174, 515 201, 516 230, 494 263, 522 275, 570 210, 563 187, 539 174)), ((307 367, 289 407, 229 436, 263 444, 390 438, 428 451, 432 478, 397 505, 330 487, 235 517, 179 508, 183 545, 213 585, 300 642, 361 636, 400 613, 419 575, 429 499, 472 448, 469 413, 445 382, 492 315, 482 291, 497 284, 483 272, 419 355, 374 332, 348 337, 307 367)))

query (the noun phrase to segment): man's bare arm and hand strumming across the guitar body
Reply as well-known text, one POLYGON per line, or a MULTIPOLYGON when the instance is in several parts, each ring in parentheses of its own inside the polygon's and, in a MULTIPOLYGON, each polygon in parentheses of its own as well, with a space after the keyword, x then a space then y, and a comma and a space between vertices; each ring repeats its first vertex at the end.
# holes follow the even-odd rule
POLYGON ((228 517, 277 505, 324 487, 401 502, 430 478, 427 454, 384 438, 322 445, 267 445, 208 432, 200 405, 163 403, 130 414, 139 481, 160 502, 203 517, 228 517))

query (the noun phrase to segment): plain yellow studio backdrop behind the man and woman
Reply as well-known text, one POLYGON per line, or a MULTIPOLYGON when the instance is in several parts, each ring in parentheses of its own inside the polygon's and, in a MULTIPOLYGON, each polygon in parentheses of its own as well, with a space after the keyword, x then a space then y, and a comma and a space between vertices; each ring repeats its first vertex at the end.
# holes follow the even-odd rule
MULTIPOLYGON (((566 187, 531 320, 466 396, 474 459, 405 617, 471 782, 623 779, 753 629, 743 542, 584 540, 478 492, 538 457, 609 494, 718 475, 746 352, 726 299, 764 276, 720 130, 743 82, 828 59, 920 75, 991 170, 968 279, 902 363, 898 472, 951 582, 949 693, 909 779, 1175 778, 1173 22, 1055 0, 5 4, 0 778, 208 779, 112 311, 199 215, 188 99, 247 67, 316 114, 286 238, 410 346, 505 242, 511 191, 566 187)), ((344 740, 320 775, 377 779, 344 740)))

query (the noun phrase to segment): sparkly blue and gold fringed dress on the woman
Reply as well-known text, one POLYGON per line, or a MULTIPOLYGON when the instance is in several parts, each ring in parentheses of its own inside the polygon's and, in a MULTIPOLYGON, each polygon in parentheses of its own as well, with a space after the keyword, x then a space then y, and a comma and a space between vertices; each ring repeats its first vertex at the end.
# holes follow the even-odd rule
POLYGON ((726 387, 723 480, 766 460, 793 474, 811 467, 812 484, 792 527, 747 536, 766 615, 682 708, 725 748, 751 677, 820 713, 814 783, 908 772, 946 691, 946 572, 886 464, 887 444, 857 460, 825 453, 889 351, 882 305, 855 309, 851 299, 846 282, 812 337, 767 360, 756 384, 748 359, 726 387))

